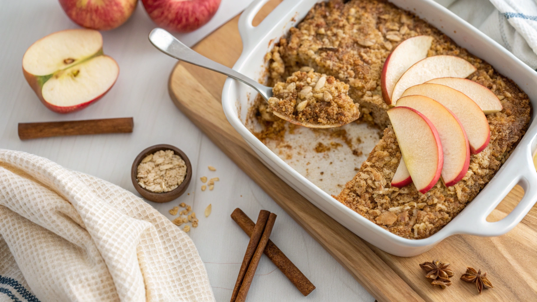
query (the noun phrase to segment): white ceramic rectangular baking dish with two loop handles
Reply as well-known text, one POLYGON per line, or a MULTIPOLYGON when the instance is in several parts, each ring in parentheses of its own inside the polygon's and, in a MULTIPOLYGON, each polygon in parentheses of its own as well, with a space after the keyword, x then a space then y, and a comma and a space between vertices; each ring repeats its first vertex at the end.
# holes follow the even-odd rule
MULTIPOLYGON (((302 20, 317 0, 284 0, 258 26, 252 26, 253 17, 268 0, 256 0, 239 19, 238 28, 243 42, 241 57, 233 69, 255 79, 266 74, 264 56, 289 28, 302 20)), ((511 78, 524 90, 537 108, 537 72, 518 60, 494 40, 432 0, 393 0, 398 7, 412 11, 420 18, 439 28, 460 46, 483 58, 503 75, 511 78)), ((399 237, 339 203, 335 198, 297 173, 274 154, 245 127, 248 108, 256 92, 236 80, 228 78, 222 91, 222 105, 233 127, 242 135, 258 156, 274 173, 280 176, 302 196, 326 214, 343 224, 362 239, 383 251, 397 256, 413 256, 423 253, 441 240, 453 234, 498 236, 509 232, 524 218, 537 201, 537 173, 533 166, 537 125, 535 111, 531 126, 510 158, 494 178, 467 207, 439 232, 431 237, 412 240, 399 237), (525 195, 517 207, 498 222, 485 220, 489 213, 515 186, 524 188, 525 195)))

